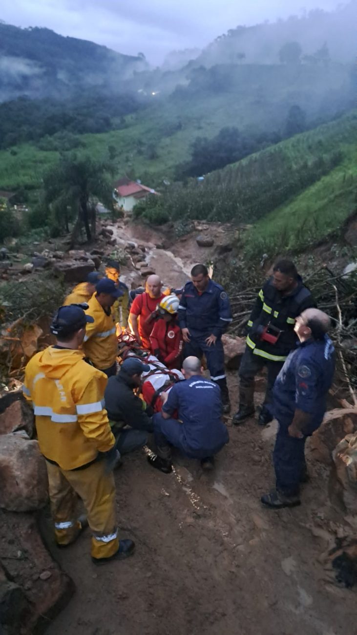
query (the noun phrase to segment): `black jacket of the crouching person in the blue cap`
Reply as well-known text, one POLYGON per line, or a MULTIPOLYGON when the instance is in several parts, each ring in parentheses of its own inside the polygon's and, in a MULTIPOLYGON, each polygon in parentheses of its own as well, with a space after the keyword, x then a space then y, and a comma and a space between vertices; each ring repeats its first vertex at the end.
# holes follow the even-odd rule
POLYGON ((135 396, 133 388, 135 384, 125 370, 109 377, 104 392, 108 418, 111 421, 123 422, 137 430, 152 432, 152 418, 142 409, 142 401, 135 396))

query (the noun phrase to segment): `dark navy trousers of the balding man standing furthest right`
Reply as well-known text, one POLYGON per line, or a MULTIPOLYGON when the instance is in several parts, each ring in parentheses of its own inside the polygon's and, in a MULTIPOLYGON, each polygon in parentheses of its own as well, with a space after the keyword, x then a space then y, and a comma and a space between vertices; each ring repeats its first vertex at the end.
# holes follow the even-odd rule
POLYGON ((273 451, 276 489, 286 496, 299 494, 300 478, 306 470, 305 443, 307 437, 295 439, 288 433, 288 422, 279 422, 273 451))

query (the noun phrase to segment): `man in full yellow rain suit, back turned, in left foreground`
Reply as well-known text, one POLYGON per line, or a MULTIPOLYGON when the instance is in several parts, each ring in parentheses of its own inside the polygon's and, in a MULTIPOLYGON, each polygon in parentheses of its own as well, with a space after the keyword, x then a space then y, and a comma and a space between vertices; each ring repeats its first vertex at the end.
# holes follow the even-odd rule
POLYGON ((90 526, 96 564, 129 556, 131 540, 118 539, 114 436, 103 406, 107 378, 79 351, 93 318, 76 305, 58 309, 51 324, 57 337, 30 359, 24 395, 34 406, 39 449, 46 459, 57 544, 65 547, 90 526), (77 495, 88 521, 76 516, 77 495))

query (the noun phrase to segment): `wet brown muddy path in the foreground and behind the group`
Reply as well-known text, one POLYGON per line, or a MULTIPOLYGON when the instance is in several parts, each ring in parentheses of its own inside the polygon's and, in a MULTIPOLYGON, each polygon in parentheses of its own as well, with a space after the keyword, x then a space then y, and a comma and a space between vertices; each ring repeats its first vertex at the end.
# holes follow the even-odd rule
MULTIPOLYGON (((131 228, 120 232, 134 238, 131 228)), ((165 283, 184 283, 194 247, 181 264, 184 246, 158 250, 149 231, 137 236, 144 240, 165 283)), ((235 406, 235 374, 229 388, 235 406)), ((153 470, 144 450, 126 456, 116 472, 118 520, 135 555, 97 567, 88 532, 65 551, 53 547, 76 594, 48 635, 355 635, 356 595, 337 587, 319 560, 342 522, 328 500, 327 469, 307 451, 302 505, 260 505, 273 485, 275 432, 274 423, 229 425, 229 445, 210 474, 180 455, 169 475, 153 470)))

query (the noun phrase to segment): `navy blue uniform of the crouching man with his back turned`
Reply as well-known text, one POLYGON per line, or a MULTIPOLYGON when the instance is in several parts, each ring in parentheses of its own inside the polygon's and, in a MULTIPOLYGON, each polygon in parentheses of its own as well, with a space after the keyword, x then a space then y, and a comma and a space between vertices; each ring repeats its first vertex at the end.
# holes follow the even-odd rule
MULTIPOLYGON (((173 445, 186 457, 213 456, 228 443, 227 428, 222 422, 222 401, 217 384, 194 375, 173 385, 163 411, 179 419, 164 419, 161 413, 153 417, 156 445, 173 445), (182 422, 182 423, 180 423, 182 422)), ((158 452, 159 453, 159 452, 158 452)))

